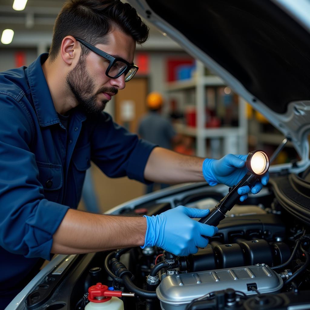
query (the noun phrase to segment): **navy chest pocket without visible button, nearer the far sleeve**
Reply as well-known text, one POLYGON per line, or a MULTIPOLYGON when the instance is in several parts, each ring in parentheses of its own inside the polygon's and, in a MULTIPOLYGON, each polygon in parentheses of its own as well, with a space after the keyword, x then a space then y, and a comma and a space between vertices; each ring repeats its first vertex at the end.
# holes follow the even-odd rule
POLYGON ((91 144, 88 143, 74 150, 72 155, 72 171, 76 188, 77 201, 81 198, 86 170, 91 166, 91 144))

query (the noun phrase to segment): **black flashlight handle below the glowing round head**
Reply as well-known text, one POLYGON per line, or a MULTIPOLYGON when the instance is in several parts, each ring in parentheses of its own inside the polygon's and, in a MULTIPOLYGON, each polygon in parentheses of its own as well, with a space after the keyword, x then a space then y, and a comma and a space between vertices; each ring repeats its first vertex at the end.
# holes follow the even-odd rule
POLYGON ((227 211, 238 201, 240 194, 238 188, 248 185, 250 188, 259 180, 259 176, 248 172, 241 181, 232 187, 230 192, 210 211, 210 213, 199 220, 200 223, 217 226, 225 218, 227 211))

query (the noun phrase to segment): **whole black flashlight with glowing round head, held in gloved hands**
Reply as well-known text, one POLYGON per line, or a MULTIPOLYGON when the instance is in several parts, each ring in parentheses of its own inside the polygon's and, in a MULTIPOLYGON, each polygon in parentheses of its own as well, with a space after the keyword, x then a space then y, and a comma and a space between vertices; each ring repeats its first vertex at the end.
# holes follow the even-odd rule
POLYGON ((241 181, 234 185, 229 193, 210 211, 210 213, 199 220, 200 223, 217 226, 219 222, 225 218, 227 211, 238 201, 240 195, 238 188, 248 185, 250 188, 255 185, 260 177, 264 175, 269 169, 269 156, 262 150, 256 150, 248 154, 246 157, 246 167, 248 172, 241 179, 241 181))

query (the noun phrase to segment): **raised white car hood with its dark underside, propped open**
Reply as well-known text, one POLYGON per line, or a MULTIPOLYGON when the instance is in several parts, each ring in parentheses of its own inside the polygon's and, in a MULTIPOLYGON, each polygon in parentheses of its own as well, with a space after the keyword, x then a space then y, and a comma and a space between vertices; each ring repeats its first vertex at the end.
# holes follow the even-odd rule
POLYGON ((129 2, 292 141, 295 172, 309 165, 309 1, 129 2))

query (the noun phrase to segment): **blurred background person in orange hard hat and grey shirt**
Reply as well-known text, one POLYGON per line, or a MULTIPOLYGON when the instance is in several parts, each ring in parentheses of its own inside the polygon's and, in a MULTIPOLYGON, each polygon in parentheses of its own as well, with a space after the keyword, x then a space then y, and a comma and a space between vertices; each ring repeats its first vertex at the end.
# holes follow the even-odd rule
MULTIPOLYGON (((139 122, 138 134, 142 139, 171 150, 178 140, 178 135, 168 119, 162 116, 163 103, 162 94, 154 91, 147 95, 146 105, 148 113, 139 122)), ((157 183, 148 184, 146 186, 146 193, 153 192, 154 186, 157 186, 157 183)), ((159 184, 161 189, 168 186, 169 184, 165 183, 159 184)))

